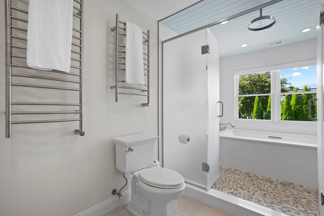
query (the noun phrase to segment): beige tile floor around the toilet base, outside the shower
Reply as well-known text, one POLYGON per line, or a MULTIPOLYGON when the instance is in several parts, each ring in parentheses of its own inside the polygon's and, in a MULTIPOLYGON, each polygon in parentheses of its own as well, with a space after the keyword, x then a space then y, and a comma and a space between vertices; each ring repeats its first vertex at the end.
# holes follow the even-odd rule
MULTIPOLYGON (((177 204, 179 216, 230 216, 185 195, 178 199, 177 204)), ((104 216, 133 216, 126 207, 127 204, 120 206, 104 216)))

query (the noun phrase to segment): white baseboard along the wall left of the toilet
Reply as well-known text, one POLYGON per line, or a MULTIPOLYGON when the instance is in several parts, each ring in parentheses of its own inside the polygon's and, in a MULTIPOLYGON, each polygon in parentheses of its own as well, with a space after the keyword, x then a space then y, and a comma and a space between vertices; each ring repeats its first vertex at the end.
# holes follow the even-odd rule
POLYGON ((131 201, 131 190, 124 192, 120 198, 112 197, 74 216, 102 216, 129 201, 131 201))

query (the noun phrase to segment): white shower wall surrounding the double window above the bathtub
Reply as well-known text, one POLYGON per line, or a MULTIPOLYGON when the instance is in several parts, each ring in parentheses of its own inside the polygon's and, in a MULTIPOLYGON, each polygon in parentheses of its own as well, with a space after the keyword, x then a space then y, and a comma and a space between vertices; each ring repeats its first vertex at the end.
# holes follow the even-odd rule
POLYGON ((220 59, 220 98, 224 103, 224 116, 221 117, 221 122, 234 123, 235 129, 316 135, 315 122, 312 122, 313 124, 254 123, 234 119, 234 71, 272 68, 276 65, 307 60, 313 60, 316 63, 316 40, 220 59))

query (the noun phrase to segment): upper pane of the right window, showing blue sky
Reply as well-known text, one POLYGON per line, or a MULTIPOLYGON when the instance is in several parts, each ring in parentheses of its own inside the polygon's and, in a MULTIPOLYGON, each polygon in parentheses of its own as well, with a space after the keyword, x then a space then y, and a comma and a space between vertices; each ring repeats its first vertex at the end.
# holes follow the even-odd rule
POLYGON ((281 92, 316 91, 316 66, 280 70, 281 92))

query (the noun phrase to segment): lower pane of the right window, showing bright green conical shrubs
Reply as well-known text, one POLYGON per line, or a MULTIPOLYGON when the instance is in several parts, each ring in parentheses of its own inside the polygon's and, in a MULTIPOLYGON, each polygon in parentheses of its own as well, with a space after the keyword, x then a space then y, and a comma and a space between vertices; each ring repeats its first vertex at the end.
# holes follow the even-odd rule
MULTIPOLYGON (((281 95, 281 120, 311 121, 308 118, 308 101, 316 98, 316 93, 281 95)), ((316 101, 311 103, 311 116, 317 118, 316 101)))

